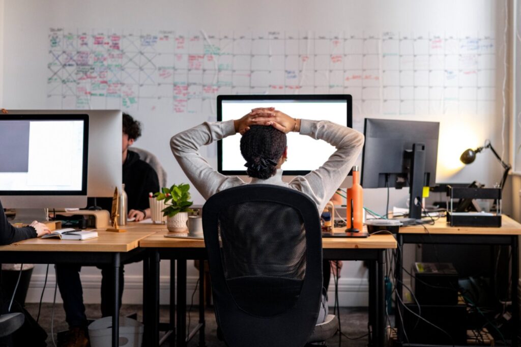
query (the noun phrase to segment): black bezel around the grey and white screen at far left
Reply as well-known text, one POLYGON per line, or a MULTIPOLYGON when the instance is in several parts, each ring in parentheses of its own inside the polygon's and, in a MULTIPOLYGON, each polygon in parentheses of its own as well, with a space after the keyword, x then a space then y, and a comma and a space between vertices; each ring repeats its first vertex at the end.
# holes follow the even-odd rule
MULTIPOLYGON (((60 195, 87 195, 87 174, 88 174, 88 158, 89 158, 89 115, 86 114, 70 114, 70 115, 2 115, 0 116, 0 122, 4 120, 27 120, 27 121, 45 121, 45 120, 82 120, 83 121, 83 160, 82 160, 82 179, 81 179, 81 190, 0 190, 1 195, 18 195, 18 196, 60 196, 60 195)), ((49 153, 49 165, 53 165, 53 158, 59 158, 59 153, 49 153)), ((42 168, 44 169, 44 168, 42 168)))

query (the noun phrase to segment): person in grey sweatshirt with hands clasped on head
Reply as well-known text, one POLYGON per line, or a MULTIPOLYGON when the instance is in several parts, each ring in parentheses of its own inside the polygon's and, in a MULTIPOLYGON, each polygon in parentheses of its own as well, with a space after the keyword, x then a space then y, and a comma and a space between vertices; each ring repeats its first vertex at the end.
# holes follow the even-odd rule
MULTIPOLYGON (((199 148, 240 133, 241 154, 246 160, 246 173, 251 183, 274 184, 308 195, 321 211, 348 175, 362 151, 364 135, 354 129, 326 120, 290 117, 272 107, 255 108, 244 117, 224 122, 204 122, 174 135, 170 147, 188 179, 204 199, 222 190, 247 184, 237 176, 225 176, 212 168, 199 153, 199 148), (318 169, 291 182, 282 181, 282 164, 288 160, 286 134, 297 132, 323 140, 337 148, 318 169)), ((322 302, 317 322, 327 315, 322 302)))

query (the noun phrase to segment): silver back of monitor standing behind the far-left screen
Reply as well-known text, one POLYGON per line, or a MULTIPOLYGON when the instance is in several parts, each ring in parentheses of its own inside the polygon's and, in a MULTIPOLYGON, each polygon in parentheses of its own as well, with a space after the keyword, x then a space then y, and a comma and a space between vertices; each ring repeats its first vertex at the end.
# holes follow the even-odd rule
MULTIPOLYGON (((118 190, 121 188, 121 134, 123 129, 123 113, 121 110, 9 110, 8 113, 8 115, 21 114, 39 116, 88 115, 87 195, 89 197, 112 197, 114 188, 118 187, 118 190)), ((53 162, 51 158, 53 156, 49 157, 49 165, 52 165, 53 162)), ((2 200, 2 203, 4 204, 4 200, 2 200)), ((47 207, 85 207, 86 205, 85 202, 82 206, 49 205, 47 207)), ((7 207, 5 204, 4 206, 7 207)))

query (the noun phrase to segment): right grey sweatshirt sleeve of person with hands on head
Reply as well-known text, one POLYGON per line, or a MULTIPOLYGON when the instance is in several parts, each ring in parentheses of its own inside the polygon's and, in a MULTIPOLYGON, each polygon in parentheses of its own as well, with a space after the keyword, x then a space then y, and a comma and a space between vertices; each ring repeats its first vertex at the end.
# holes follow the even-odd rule
POLYGON ((300 134, 323 140, 337 150, 318 169, 305 176, 295 177, 290 186, 311 197, 319 212, 353 167, 364 146, 364 135, 354 129, 327 120, 301 120, 300 134))

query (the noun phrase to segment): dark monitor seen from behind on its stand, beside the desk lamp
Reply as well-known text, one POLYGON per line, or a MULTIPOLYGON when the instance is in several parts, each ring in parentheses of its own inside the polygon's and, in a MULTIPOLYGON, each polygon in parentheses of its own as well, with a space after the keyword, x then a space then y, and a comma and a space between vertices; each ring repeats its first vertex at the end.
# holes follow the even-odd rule
POLYGON ((410 187, 409 217, 420 219, 423 187, 436 180, 439 129, 438 122, 366 118, 362 187, 410 187))

